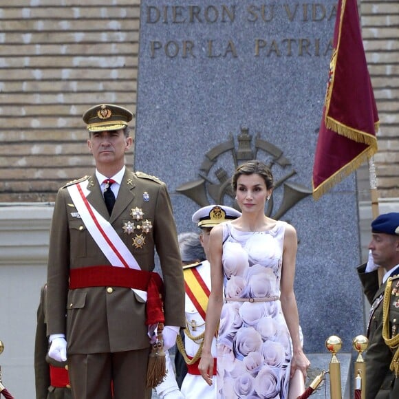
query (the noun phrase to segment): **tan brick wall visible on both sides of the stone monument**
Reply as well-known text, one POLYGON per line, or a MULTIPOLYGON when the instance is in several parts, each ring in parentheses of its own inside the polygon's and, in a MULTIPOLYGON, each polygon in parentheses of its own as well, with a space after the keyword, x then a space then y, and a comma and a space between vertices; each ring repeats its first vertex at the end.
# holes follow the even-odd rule
MULTIPOLYGON (((399 197, 398 3, 362 0, 360 14, 381 120, 379 193, 399 197)), ((53 201, 91 169, 85 109, 107 102, 135 111, 139 16, 140 0, 2 2, 0 202, 53 201)), ((363 166, 360 200, 367 176, 363 166)))

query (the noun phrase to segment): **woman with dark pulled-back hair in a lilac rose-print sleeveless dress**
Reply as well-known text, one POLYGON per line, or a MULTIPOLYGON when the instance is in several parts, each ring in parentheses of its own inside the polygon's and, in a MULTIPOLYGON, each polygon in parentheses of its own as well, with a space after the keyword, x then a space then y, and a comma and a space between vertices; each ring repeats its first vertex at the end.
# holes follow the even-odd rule
POLYGON ((296 231, 265 215, 273 189, 265 164, 239 166, 233 189, 242 215, 210 237, 212 290, 199 369, 211 384, 219 327, 217 398, 287 399, 290 377, 299 369, 305 378, 310 365, 294 294, 296 231))

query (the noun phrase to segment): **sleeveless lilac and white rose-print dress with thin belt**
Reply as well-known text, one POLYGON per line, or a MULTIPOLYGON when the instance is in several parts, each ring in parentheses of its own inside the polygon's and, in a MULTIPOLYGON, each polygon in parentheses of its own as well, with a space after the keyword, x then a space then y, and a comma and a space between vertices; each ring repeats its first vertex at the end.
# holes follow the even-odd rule
POLYGON ((286 225, 252 233, 224 224, 217 398, 288 398, 292 349, 279 301, 286 225))

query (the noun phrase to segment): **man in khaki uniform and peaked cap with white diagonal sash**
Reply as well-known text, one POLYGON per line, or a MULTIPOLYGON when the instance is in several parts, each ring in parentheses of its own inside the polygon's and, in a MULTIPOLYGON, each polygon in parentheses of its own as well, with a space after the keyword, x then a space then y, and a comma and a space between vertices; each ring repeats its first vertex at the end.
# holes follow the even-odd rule
POLYGON ((54 206, 49 356, 66 360, 67 352, 78 399, 110 399, 111 386, 114 399, 149 398, 147 377, 159 369, 147 372, 147 365, 162 360, 162 335, 168 349, 184 326, 184 279, 169 193, 158 178, 125 167, 132 117, 111 104, 85 112, 96 171, 60 188, 54 206), (163 285, 153 272, 155 250, 163 285))

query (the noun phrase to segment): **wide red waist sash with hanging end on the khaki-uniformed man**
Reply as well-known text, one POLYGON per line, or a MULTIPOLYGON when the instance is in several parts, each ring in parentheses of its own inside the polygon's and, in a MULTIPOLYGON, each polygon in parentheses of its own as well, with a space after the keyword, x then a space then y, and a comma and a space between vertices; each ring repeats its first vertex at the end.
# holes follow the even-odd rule
POLYGON ((147 291, 146 324, 164 323, 164 283, 158 273, 116 266, 87 266, 69 270, 70 290, 107 285, 147 291))

